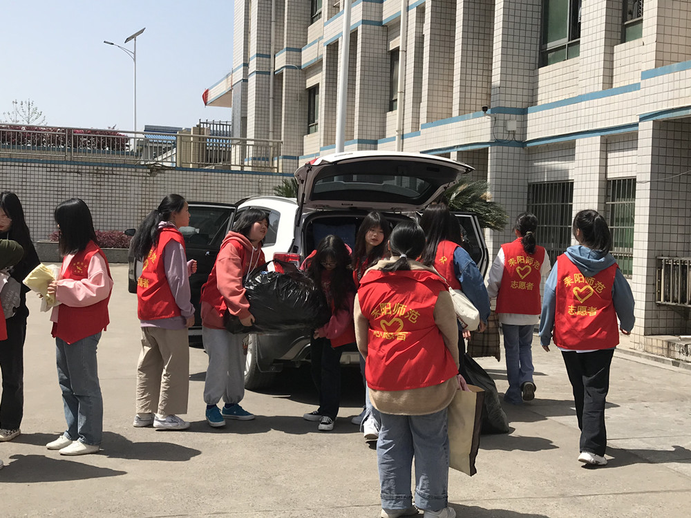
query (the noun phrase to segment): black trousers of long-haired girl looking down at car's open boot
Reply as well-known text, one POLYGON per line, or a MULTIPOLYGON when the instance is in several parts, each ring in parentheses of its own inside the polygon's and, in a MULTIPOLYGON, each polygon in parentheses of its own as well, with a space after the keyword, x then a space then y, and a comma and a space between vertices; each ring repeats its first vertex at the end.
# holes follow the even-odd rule
POLYGON ((312 381, 319 394, 319 414, 336 419, 341 406, 341 347, 331 347, 327 338, 312 338, 312 381))

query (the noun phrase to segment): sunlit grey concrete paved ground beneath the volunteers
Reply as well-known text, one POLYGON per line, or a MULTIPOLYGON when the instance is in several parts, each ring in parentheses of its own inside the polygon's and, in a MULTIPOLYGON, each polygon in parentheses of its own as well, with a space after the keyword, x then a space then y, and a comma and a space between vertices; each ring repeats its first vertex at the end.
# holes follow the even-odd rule
MULTIPOLYGON (((30 298, 23 434, 0 443, 0 517, 377 517, 375 452, 349 422, 359 412, 359 373, 344 378, 333 432, 301 419, 314 410, 308 373, 249 392, 255 421, 211 429, 203 419, 206 356, 191 351, 184 432, 132 428, 139 329, 126 267, 113 267, 113 323, 99 346, 104 393, 100 454, 61 457, 44 447, 64 430, 48 316, 30 298)), ((691 508, 691 371, 618 352, 607 409, 609 465, 576 461, 578 427, 560 354, 533 347, 537 399, 507 407, 508 435, 483 436, 474 477, 452 471, 459 517, 688 516, 691 508)), ((506 386, 503 363, 480 361, 506 386)))

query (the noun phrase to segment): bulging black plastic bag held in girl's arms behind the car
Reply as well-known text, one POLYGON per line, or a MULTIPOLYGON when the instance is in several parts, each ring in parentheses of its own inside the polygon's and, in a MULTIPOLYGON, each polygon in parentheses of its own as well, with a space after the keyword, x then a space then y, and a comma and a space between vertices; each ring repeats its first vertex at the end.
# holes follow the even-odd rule
POLYGON ((331 313, 321 290, 302 271, 254 270, 245 281, 245 297, 254 325, 245 327, 226 309, 225 328, 231 333, 276 333, 314 329, 328 323, 331 313))

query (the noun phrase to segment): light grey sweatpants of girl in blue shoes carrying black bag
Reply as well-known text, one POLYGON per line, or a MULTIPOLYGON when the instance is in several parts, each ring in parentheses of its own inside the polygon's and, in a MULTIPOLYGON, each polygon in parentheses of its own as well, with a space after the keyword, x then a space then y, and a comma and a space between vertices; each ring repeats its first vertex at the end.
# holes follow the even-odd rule
POLYGON ((246 336, 225 329, 202 327, 202 342, 209 356, 204 383, 204 402, 207 405, 216 405, 221 398, 225 403, 243 401, 246 359, 243 340, 246 336))

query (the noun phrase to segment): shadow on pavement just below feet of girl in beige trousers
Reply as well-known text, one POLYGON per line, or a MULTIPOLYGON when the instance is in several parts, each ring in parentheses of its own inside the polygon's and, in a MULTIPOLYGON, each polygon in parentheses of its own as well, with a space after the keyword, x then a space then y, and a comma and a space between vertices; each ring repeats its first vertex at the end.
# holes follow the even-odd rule
MULTIPOLYGON (((153 430, 152 430, 153 432, 153 430)), ((187 448, 176 443, 169 443, 162 441, 162 434, 171 434, 170 438, 174 439, 174 433, 178 432, 153 432, 156 434, 156 442, 133 443, 126 437, 113 432, 103 433, 103 443, 101 454, 110 457, 111 459, 136 459, 139 461, 169 461, 169 462, 184 462, 189 461, 192 457, 200 454, 200 450, 187 448)))

